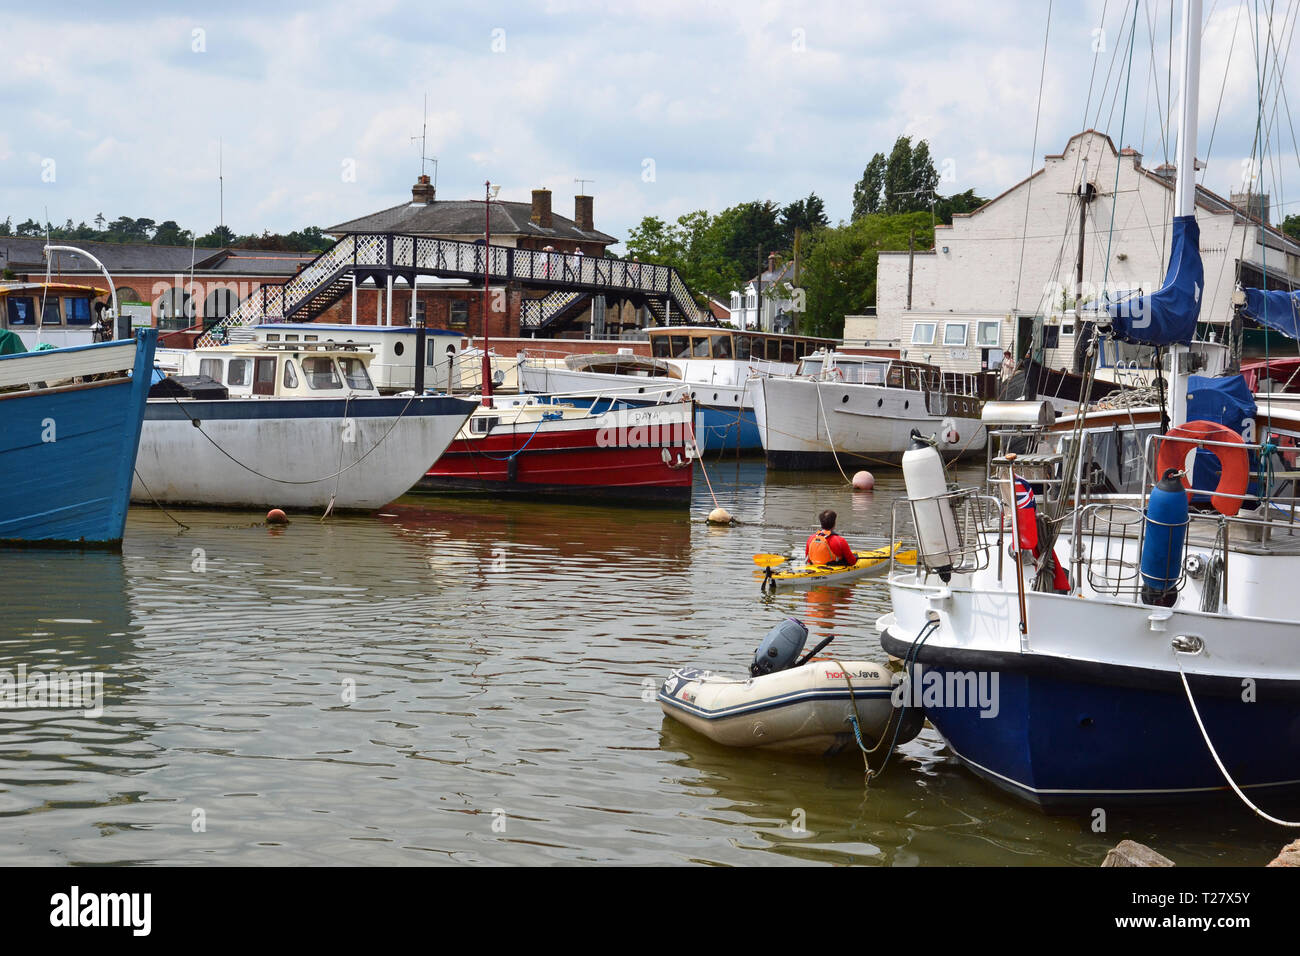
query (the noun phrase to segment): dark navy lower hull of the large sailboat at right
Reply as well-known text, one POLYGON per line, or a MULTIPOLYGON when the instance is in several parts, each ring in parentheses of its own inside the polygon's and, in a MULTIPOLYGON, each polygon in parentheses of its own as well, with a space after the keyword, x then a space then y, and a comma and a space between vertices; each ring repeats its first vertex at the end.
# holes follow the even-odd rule
MULTIPOLYGON (((910 646, 888 636, 883 644, 900 656, 910 646)), ((931 648, 919 658, 924 674, 937 679, 974 670, 998 675, 996 714, 926 706, 926 717, 971 771, 1045 810, 1230 793, 1176 675, 1063 659, 1023 667, 931 648)), ((1300 689, 1291 683, 1261 684, 1257 700, 1247 702, 1239 680, 1191 679, 1210 740, 1234 779, 1265 809, 1300 799, 1300 689)))

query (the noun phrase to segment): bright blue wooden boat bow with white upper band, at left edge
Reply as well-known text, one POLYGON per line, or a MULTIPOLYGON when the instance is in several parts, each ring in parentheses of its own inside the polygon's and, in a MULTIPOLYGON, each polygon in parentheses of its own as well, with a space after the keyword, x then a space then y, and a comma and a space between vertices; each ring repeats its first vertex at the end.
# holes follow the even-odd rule
POLYGON ((0 544, 121 545, 156 336, 0 355, 0 544))

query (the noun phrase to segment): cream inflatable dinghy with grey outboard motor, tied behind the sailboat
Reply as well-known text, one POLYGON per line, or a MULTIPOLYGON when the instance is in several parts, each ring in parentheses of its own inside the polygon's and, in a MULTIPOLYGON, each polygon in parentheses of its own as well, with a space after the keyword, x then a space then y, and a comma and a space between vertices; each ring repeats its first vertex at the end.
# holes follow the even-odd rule
POLYGON ((857 753, 854 721, 868 748, 881 737, 904 744, 920 732, 919 708, 893 706, 888 669, 874 661, 811 659, 826 643, 796 662, 806 639, 800 622, 779 624, 759 645, 749 678, 675 670, 659 687, 659 706, 715 743, 789 753, 857 753))

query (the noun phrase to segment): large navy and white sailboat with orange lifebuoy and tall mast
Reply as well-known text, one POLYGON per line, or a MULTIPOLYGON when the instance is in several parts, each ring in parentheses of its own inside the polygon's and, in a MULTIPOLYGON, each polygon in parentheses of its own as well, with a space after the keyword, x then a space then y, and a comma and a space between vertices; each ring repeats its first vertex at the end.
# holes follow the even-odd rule
POLYGON ((1100 336, 1171 358, 1169 424, 1134 438, 1134 493, 1089 492, 1083 410, 1062 436, 1045 405, 985 405, 991 493, 949 490, 918 437, 893 537, 910 529, 920 557, 890 571, 878 630, 916 662, 906 693, 949 752, 1019 799, 1069 810, 1235 792, 1286 825, 1269 808, 1300 795, 1300 527, 1277 471, 1300 416, 1256 415, 1239 376, 1193 375, 1200 30, 1187 0, 1165 284, 1097 316, 1100 336), (996 713, 963 693, 988 674, 996 713))

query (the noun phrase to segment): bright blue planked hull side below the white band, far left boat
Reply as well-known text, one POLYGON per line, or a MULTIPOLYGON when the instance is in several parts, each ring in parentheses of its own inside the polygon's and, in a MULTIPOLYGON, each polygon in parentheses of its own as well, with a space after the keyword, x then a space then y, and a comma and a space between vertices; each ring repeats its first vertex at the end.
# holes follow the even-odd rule
POLYGON ((121 544, 153 342, 130 380, 0 395, 0 542, 121 544))

